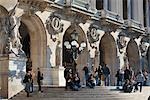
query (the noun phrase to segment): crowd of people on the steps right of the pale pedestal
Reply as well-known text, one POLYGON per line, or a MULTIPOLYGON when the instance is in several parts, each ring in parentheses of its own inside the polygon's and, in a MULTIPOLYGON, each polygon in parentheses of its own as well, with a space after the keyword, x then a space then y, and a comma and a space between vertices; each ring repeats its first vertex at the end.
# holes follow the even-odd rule
MULTIPOLYGON (((98 66, 98 68, 84 66, 84 82, 89 88, 94 88, 95 86, 110 86, 110 69, 107 64, 103 66, 98 66)), ((72 69, 66 68, 64 71, 64 77, 66 79, 66 89, 68 87, 72 90, 79 90, 81 88, 79 72, 72 73, 72 69)), ((140 90, 142 92, 142 86, 146 85, 148 80, 148 72, 146 70, 139 71, 135 73, 131 67, 126 67, 125 69, 118 69, 115 74, 117 89, 123 90, 124 92, 136 92, 140 90), (138 86, 140 89, 138 89, 138 86)))

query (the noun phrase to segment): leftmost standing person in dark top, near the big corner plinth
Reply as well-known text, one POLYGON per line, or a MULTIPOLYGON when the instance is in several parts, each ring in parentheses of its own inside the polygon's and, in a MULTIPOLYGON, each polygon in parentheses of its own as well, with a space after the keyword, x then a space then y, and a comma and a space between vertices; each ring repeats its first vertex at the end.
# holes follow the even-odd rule
POLYGON ((30 71, 28 71, 24 77, 23 83, 25 83, 25 92, 27 93, 27 97, 30 94, 30 85, 31 85, 31 76, 30 71))

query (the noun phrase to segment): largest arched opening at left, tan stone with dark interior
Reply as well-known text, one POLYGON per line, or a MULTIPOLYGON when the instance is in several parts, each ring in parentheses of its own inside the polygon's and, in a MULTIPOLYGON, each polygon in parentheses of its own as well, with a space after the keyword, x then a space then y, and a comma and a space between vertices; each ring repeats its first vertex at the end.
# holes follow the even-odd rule
POLYGON ((46 32, 41 19, 36 15, 21 17, 20 34, 22 36, 23 50, 28 62, 27 67, 36 70, 37 67, 46 67, 46 32))

